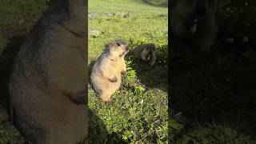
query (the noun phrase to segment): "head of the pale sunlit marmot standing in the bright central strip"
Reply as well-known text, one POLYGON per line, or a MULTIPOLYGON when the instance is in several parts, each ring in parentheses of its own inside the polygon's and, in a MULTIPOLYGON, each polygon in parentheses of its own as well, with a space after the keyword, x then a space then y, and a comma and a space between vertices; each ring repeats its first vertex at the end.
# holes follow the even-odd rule
POLYGON ((129 51, 126 42, 120 39, 110 42, 110 44, 107 46, 107 50, 111 58, 120 58, 129 51))

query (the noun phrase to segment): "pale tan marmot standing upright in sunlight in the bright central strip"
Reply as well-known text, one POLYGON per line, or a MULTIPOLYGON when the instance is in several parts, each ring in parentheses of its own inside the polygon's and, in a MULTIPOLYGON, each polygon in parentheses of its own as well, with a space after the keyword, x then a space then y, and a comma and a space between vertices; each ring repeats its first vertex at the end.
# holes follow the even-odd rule
POLYGON ((124 57, 127 52, 126 43, 122 40, 116 40, 106 46, 106 49, 94 63, 90 75, 91 86, 103 102, 110 102, 111 95, 121 85, 121 74, 126 72, 124 57))

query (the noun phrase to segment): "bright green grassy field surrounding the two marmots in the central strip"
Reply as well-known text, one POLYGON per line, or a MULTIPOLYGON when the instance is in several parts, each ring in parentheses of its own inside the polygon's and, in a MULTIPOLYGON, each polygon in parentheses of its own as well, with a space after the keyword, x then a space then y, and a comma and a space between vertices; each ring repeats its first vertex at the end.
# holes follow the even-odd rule
POLYGON ((89 142, 167 143, 167 7, 135 0, 98 0, 89 1, 89 13, 90 67, 104 46, 117 38, 129 42, 130 50, 149 42, 158 47, 155 66, 126 57, 126 82, 110 104, 89 90, 89 142))

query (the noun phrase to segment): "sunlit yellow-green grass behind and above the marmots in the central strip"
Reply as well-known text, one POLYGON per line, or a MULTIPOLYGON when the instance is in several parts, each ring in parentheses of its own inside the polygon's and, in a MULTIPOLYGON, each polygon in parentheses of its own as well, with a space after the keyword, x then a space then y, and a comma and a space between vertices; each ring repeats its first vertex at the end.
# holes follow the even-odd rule
POLYGON ((89 31, 99 30, 99 35, 89 37, 89 63, 101 53, 104 45, 115 38, 129 42, 147 39, 157 43, 167 44, 167 8, 150 6, 134 1, 89 1, 89 13, 99 13, 98 18, 89 18, 89 31), (130 14, 129 18, 122 16, 108 17, 104 13, 130 14))

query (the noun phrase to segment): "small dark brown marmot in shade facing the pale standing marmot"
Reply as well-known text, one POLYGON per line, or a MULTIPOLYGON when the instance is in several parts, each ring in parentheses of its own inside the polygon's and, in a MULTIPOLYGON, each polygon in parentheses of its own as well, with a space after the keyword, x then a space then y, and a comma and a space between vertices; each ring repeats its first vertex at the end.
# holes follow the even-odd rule
POLYGON ((134 48, 133 53, 135 58, 148 62, 150 66, 153 66, 157 59, 156 49, 153 43, 137 46, 134 48))

